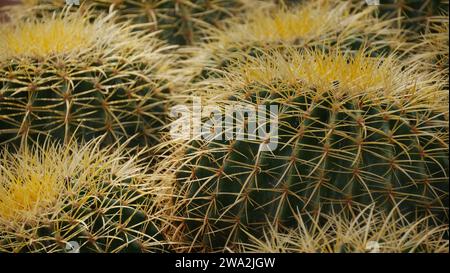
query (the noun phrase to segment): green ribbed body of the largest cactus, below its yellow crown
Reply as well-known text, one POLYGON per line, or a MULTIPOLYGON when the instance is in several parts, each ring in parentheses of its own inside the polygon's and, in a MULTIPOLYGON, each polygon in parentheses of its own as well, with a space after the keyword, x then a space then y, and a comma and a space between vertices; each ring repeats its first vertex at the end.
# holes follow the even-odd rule
MULTIPOLYGON (((338 84, 338 83, 336 83, 338 84)), ((193 141, 177 171, 183 233, 192 247, 233 249, 298 213, 352 213, 375 203, 448 223, 448 121, 414 101, 318 92, 301 82, 250 83, 236 100, 279 106, 279 139, 193 141), (184 202, 183 202, 184 201, 184 202)))

